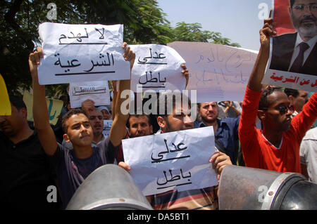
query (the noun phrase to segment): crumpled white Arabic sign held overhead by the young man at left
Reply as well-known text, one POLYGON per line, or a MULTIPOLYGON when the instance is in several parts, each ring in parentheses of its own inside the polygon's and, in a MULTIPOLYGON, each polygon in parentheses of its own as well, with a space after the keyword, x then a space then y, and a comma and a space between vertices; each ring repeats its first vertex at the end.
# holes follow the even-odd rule
POLYGON ((123 25, 39 25, 44 60, 39 84, 130 79, 123 58, 123 25))

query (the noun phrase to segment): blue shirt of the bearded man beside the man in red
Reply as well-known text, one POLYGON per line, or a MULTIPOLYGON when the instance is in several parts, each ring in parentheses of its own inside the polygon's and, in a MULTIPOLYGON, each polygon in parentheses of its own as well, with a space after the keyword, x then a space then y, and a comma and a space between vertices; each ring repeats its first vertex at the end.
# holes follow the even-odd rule
MULTIPOLYGON (((225 147, 225 154, 230 157, 232 164, 237 165, 237 154, 239 151, 239 121, 240 116, 237 118, 217 119, 218 129, 215 138, 225 147)), ((194 121, 194 129, 207 126, 203 121, 194 121)), ((223 152, 221 147, 216 147, 220 152, 223 152)))

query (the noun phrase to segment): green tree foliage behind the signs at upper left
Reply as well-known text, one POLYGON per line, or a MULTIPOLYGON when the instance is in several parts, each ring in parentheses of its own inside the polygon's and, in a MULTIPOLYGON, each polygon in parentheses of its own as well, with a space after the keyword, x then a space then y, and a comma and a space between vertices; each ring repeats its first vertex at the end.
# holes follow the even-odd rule
MULTIPOLYGON (((179 22, 170 26, 155 0, 54 0, 57 20, 46 18, 51 0, 0 1, 0 74, 9 93, 29 89, 31 78, 28 55, 39 43, 38 26, 42 22, 68 24, 123 24, 124 41, 129 44, 167 44, 171 41, 209 41, 231 44, 220 33, 202 31, 199 23, 179 22)), ((46 86, 48 95, 66 93, 66 85, 46 86)))

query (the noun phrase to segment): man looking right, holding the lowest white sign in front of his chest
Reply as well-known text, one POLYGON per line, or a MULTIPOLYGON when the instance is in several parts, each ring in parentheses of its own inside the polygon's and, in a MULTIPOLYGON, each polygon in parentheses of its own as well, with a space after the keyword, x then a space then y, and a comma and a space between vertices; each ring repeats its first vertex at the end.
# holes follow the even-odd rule
MULTIPOLYGON (((185 95, 182 94, 182 99, 184 97, 185 95)), ((184 102, 184 100, 182 99, 180 100, 180 102, 184 102)), ((183 105, 180 102, 176 103, 176 101, 178 100, 176 100, 176 98, 173 97, 173 92, 169 92, 166 94, 163 93, 163 95, 159 98, 159 102, 162 102, 162 101, 165 101, 166 105, 163 105, 164 110, 163 112, 160 112, 157 117, 157 122, 159 126, 161 127, 160 133, 166 133, 170 136, 175 135, 175 137, 173 137, 173 139, 175 139, 175 138, 178 138, 177 137, 178 135, 175 134, 175 131, 193 129, 194 123, 192 121, 192 118, 190 117, 190 113, 188 113, 187 111, 188 108, 190 110, 190 107, 191 107, 190 103, 188 103, 188 105, 183 105), (172 102, 168 100, 164 100, 164 98, 170 99, 168 95, 171 95, 173 99, 172 102), (169 109, 167 105, 168 103, 171 103, 171 105, 173 105, 172 112, 168 111, 169 109)), ((160 107, 162 106, 161 103, 158 103, 157 105, 159 105, 160 107)), ((203 128, 203 129, 206 129, 206 128, 203 128)), ((198 130, 198 129, 194 129, 194 130, 198 130)), ((213 145, 213 143, 211 144, 213 145)), ((178 145, 177 147, 179 147, 178 151, 185 149, 185 145, 180 145, 180 143, 176 145, 178 145)), ((173 147, 171 148, 173 149, 173 147)), ((133 150, 144 150, 144 149, 143 148, 138 148, 138 149, 129 148, 127 150, 133 151, 133 150)), ((172 152, 172 150, 170 150, 170 152, 172 152)), ((215 152, 212 155, 212 157, 209 159, 209 162, 213 164, 213 169, 216 169, 217 173, 221 173, 224 166, 226 166, 227 164, 232 164, 230 162, 230 157, 228 157, 226 154, 222 152, 215 152)), ((119 166, 123 167, 127 171, 132 170, 129 164, 125 164, 125 162, 120 162, 119 166)), ((184 173, 182 173, 182 176, 184 176, 184 178, 188 175, 189 175, 189 172, 184 171, 184 173)), ((177 189, 167 190, 166 192, 163 192, 163 193, 148 196, 147 199, 149 200, 151 205, 154 207, 154 209, 217 209, 218 208, 217 187, 211 187, 211 186, 205 187, 202 189, 184 190, 184 191, 178 191, 177 189)))

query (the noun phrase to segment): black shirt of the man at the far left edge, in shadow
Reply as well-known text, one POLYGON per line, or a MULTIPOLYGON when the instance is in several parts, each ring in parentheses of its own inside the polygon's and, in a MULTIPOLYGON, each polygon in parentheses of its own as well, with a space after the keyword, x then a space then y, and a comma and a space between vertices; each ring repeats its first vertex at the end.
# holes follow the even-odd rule
POLYGON ((51 192, 47 187, 56 186, 54 169, 36 132, 13 144, 0 131, 0 157, 1 209, 58 209, 58 202, 49 203, 46 199, 51 192))

